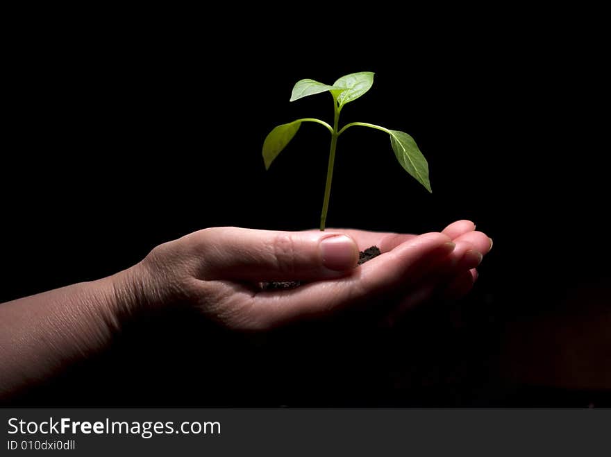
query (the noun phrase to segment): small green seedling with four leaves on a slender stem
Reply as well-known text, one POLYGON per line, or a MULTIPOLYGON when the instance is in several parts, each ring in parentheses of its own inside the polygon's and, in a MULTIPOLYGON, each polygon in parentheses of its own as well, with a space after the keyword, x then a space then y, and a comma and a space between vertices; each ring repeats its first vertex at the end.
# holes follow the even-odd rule
POLYGON ((371 123, 365 122, 352 122, 346 124, 341 129, 339 128, 340 123, 340 112, 346 103, 355 101, 357 98, 365 94, 371 86, 374 84, 374 74, 371 71, 361 71, 360 73, 353 73, 338 79, 333 85, 326 85, 319 83, 312 79, 302 79, 297 81, 293 87, 290 101, 299 100, 308 95, 320 94, 321 92, 330 92, 333 96, 333 108, 335 115, 333 116, 333 127, 331 127, 325 121, 320 119, 313 119, 311 117, 305 117, 303 119, 297 119, 290 123, 282 124, 277 126, 274 130, 269 132, 269 135, 263 142, 263 160, 265 162, 265 169, 269 169, 271 162, 278 157, 278 154, 289 144, 291 139, 295 136, 297 130, 301 126, 302 122, 316 122, 325 126, 331 133, 331 146, 329 151, 329 164, 327 169, 327 180, 325 186, 324 200, 322 204, 322 213, 320 216, 320 230, 324 230, 325 222, 327 218, 327 210, 329 207, 329 196, 331 193, 331 180, 333 179, 333 162, 335 162, 335 149, 337 148, 337 138, 342 135, 347 129, 353 126, 362 126, 375 128, 376 130, 382 130, 383 132, 390 135, 390 146, 394 150, 396 159, 399 160, 399 164, 403 166, 403 169, 410 173, 420 184, 426 187, 426 190, 430 190, 430 182, 428 182, 428 163, 424 158, 424 155, 420 152, 416 141, 410 135, 399 130, 389 130, 384 127, 376 126, 371 123))

